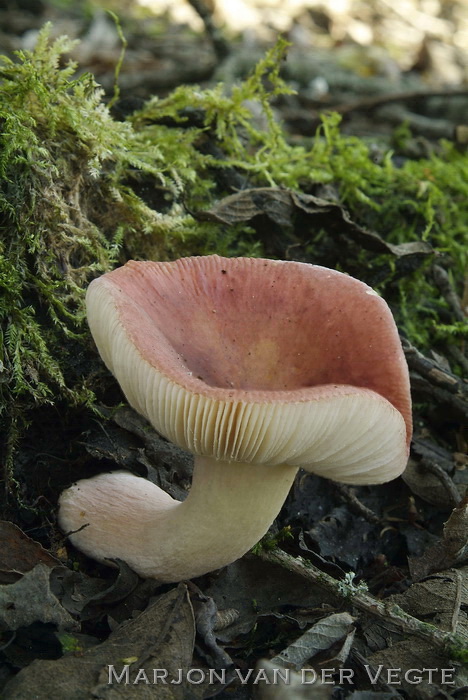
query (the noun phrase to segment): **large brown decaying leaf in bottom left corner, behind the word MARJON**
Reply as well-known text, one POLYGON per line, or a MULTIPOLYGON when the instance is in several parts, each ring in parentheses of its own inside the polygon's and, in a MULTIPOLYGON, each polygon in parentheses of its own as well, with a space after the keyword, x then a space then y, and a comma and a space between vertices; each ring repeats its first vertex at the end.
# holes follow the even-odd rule
POLYGON ((192 662, 194 638, 193 610, 187 589, 181 584, 137 618, 122 624, 102 644, 78 656, 68 654, 57 661, 34 661, 8 683, 6 697, 184 700, 186 684, 154 684, 153 669, 166 670, 169 681, 177 679, 178 669, 182 669, 185 678, 192 662))

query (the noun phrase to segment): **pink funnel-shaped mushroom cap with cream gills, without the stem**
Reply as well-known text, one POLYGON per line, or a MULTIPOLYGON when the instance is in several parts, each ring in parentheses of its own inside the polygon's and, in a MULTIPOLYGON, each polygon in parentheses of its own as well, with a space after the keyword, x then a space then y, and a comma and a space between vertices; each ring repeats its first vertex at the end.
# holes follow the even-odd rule
MULTIPOLYGON (((372 443, 383 398, 404 420, 400 461, 390 474, 377 460, 377 470, 362 476, 385 481, 403 471, 411 439, 408 369, 386 302, 363 282, 316 265, 258 258, 131 261, 92 282, 87 304, 101 356, 130 404, 194 454, 286 461, 356 482, 354 471, 321 470, 320 454, 310 456, 307 435, 298 437, 295 424, 304 431, 310 418, 313 443, 325 414, 342 430, 352 412, 353 430, 372 443), (212 411, 216 419, 206 421, 212 411), (285 454, 277 444, 265 459, 262 435, 272 427, 281 435, 276 442, 290 449, 285 454), (253 445, 244 438, 249 432, 253 445)), ((330 435, 335 444, 337 433, 330 435)))

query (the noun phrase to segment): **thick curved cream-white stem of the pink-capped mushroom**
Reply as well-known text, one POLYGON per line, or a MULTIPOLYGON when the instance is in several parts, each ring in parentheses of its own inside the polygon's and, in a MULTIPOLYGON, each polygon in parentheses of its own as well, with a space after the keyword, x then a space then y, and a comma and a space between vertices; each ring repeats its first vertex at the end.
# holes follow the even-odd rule
POLYGON ((225 566, 253 547, 280 511, 296 473, 289 465, 195 457, 192 487, 182 503, 129 472, 101 474, 64 491, 60 527, 67 533, 83 528, 70 540, 94 559, 122 559, 144 578, 181 581, 225 566))

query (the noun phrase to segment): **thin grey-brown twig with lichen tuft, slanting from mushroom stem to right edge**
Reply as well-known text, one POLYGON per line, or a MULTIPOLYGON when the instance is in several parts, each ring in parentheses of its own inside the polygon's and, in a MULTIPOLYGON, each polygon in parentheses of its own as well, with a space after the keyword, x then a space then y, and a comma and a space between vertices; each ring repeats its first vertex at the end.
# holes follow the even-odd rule
POLYGON ((434 625, 418 620, 396 603, 377 600, 359 586, 337 581, 302 557, 292 557, 277 547, 270 551, 260 550, 257 552, 257 556, 262 561, 278 564, 288 571, 302 576, 302 578, 325 588, 342 600, 348 600, 351 605, 368 615, 380 618, 386 623, 391 622, 405 635, 414 635, 424 639, 453 660, 466 660, 468 657, 468 645, 461 636, 452 632, 444 632, 434 625))

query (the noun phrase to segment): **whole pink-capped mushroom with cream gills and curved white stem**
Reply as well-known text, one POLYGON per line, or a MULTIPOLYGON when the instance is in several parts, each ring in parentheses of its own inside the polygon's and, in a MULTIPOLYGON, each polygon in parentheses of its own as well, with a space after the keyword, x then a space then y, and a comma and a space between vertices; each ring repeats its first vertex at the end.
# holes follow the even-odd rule
POLYGON ((182 503, 124 471, 61 495, 61 528, 94 559, 164 582, 199 576, 266 533, 300 467, 351 484, 404 470, 408 369, 387 304, 363 282, 212 255, 130 261, 86 302, 130 405, 195 456, 182 503))

